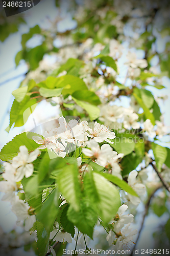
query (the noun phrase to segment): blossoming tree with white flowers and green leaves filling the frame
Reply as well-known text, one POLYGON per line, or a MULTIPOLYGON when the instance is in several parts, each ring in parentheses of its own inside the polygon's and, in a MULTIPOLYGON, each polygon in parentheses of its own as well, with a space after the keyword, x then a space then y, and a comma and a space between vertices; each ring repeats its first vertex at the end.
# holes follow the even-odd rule
MULTIPOLYGON (((0 190, 17 222, 36 230, 37 255, 54 255, 59 242, 72 239, 75 250, 79 240, 89 250, 96 225, 103 226, 115 252, 133 248, 134 216, 125 211, 142 200, 145 217, 157 190, 163 208, 155 202, 155 214, 169 212, 170 150, 161 144, 168 129, 159 93, 165 88, 161 78, 170 77, 169 42, 164 52, 157 47, 160 36, 169 35, 169 6, 147 3, 70 1, 76 28, 60 32, 59 12, 51 28, 36 25, 22 35, 15 61, 24 59, 29 71, 12 93, 7 131, 23 126, 24 132, 1 150, 0 190), (37 35, 42 44, 28 48, 37 35), (55 62, 47 62, 48 56, 55 62), (27 130, 43 102, 59 106, 62 115, 56 111, 55 122, 46 119, 43 133, 35 125, 27 130)), ((169 220, 165 225, 169 238, 169 220)))

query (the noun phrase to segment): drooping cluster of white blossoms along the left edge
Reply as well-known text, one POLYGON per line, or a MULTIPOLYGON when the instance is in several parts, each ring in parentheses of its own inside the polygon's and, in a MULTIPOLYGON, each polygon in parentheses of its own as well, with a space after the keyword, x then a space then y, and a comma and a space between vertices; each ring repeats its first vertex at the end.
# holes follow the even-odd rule
POLYGON ((20 181, 25 176, 32 176, 34 165, 32 162, 37 159, 41 152, 36 149, 29 154, 28 148, 23 145, 19 147, 19 153, 14 157, 11 163, 5 162, 5 173, 3 173, 3 181, 0 181, 0 191, 5 193, 2 200, 11 203, 11 210, 17 217, 17 223, 25 221, 25 230, 29 231, 36 222, 34 210, 29 204, 19 199, 17 191, 22 190, 20 181))

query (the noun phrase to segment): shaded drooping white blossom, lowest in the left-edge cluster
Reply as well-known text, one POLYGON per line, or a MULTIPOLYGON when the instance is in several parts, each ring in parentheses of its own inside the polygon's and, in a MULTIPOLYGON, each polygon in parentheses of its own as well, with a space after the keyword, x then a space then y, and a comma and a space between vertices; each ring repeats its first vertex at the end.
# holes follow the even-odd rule
POLYGON ((25 230, 29 231, 32 228, 34 222, 36 222, 35 215, 29 215, 30 207, 25 204, 22 200, 17 200, 13 205, 11 210, 17 217, 17 221, 25 221, 25 230))

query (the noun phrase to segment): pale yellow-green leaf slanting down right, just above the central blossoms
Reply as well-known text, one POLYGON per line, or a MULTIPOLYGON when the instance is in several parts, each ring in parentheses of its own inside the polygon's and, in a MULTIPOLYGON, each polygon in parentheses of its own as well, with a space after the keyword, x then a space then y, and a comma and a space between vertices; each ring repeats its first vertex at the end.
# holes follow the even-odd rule
POLYGON ((91 105, 89 103, 86 103, 84 101, 80 101, 78 99, 75 99, 72 97, 72 99, 79 105, 81 108, 83 108, 87 113, 89 114, 90 121, 95 120, 100 115, 100 109, 97 106, 91 105))

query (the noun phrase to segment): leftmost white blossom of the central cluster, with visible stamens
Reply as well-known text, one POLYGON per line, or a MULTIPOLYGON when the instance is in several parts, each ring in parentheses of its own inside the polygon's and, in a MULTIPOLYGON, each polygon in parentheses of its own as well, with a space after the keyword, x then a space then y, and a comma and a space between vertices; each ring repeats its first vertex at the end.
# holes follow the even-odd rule
POLYGON ((33 136, 32 139, 38 143, 38 144, 42 144, 41 146, 37 147, 39 150, 43 150, 44 148, 48 148, 48 150, 50 150, 50 148, 52 148, 53 146, 55 146, 55 138, 52 137, 48 137, 48 132, 44 133, 44 139, 42 139, 39 136, 33 136))

